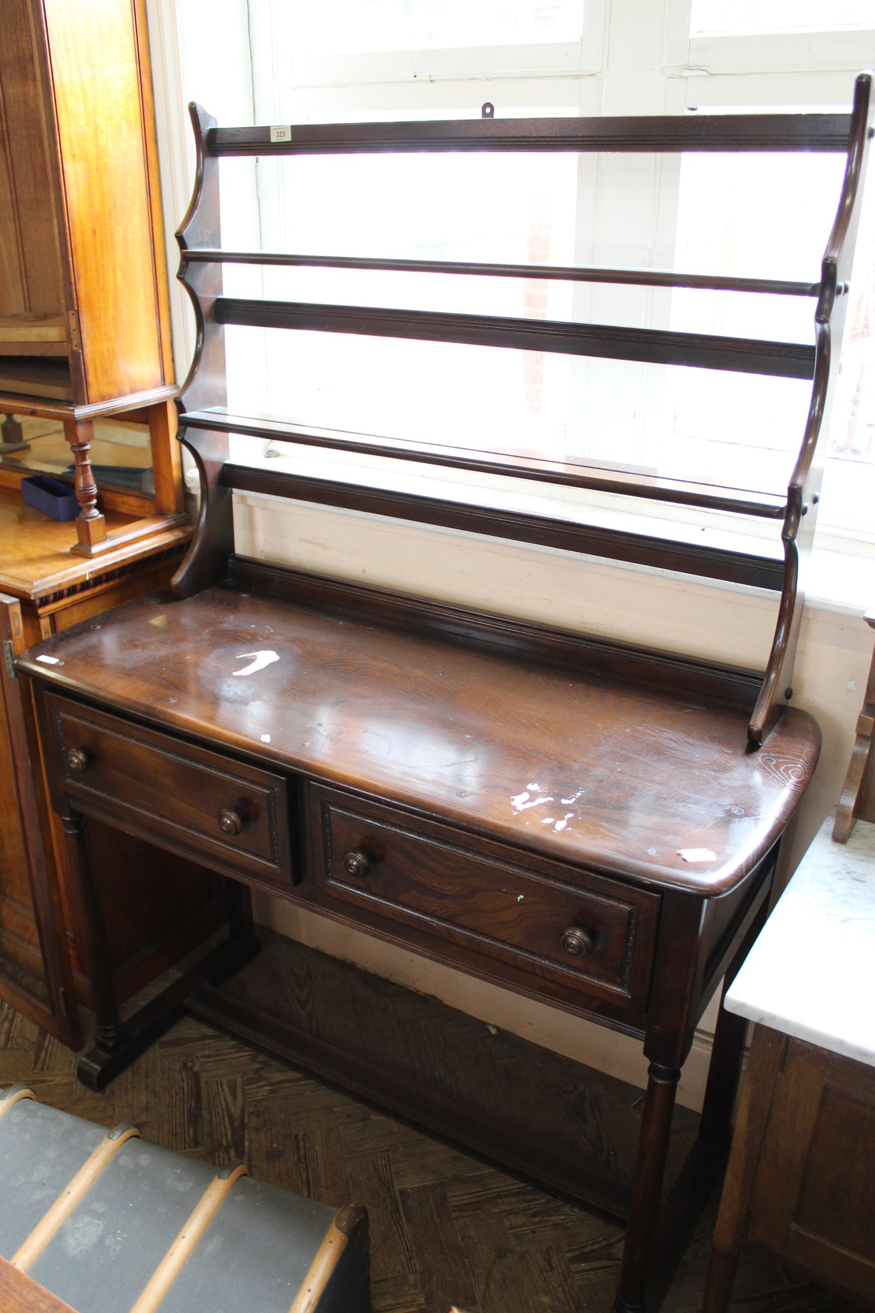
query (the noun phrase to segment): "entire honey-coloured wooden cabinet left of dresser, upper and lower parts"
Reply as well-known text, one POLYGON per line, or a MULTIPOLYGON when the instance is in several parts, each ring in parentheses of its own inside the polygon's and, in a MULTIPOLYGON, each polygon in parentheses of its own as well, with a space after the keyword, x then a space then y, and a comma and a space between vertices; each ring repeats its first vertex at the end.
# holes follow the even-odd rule
MULTIPOLYGON (((0 997, 73 1045, 92 982, 14 656, 168 583, 190 537, 173 395, 144 5, 3 0, 0 997), (93 425, 106 418, 148 431, 153 491, 96 486, 93 425), (62 478, 75 477, 75 521, 22 504, 38 441, 62 478)), ((100 826, 92 847, 129 995, 219 923, 216 877, 100 826)))

